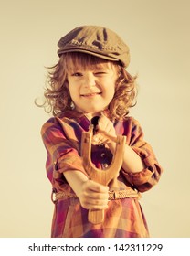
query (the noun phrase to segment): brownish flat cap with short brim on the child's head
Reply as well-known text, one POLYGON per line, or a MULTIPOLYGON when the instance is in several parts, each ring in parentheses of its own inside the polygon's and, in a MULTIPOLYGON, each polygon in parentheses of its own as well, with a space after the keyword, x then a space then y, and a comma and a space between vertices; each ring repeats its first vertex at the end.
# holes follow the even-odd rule
POLYGON ((130 63, 128 46, 121 37, 106 27, 74 28, 58 41, 58 56, 66 52, 83 52, 102 59, 120 61, 124 68, 130 63))

